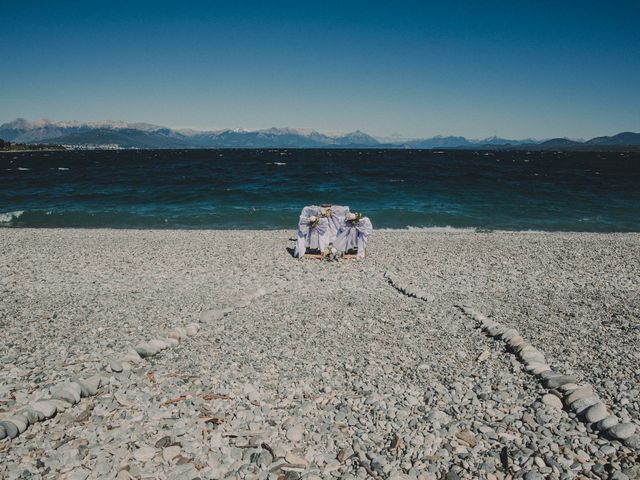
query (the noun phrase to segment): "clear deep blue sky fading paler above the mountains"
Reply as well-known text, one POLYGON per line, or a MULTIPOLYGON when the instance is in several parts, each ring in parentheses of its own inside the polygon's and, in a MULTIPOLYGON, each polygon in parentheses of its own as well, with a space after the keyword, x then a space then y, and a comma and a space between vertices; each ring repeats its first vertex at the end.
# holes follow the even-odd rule
POLYGON ((0 123, 640 131, 640 2, 3 1, 0 123))

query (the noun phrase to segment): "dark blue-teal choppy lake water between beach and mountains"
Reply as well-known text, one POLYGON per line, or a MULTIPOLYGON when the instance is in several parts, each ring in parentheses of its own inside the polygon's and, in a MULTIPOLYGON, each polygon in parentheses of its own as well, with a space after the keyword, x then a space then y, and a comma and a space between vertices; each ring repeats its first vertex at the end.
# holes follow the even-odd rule
POLYGON ((639 153, 0 153, 5 227, 293 228, 307 204, 376 228, 640 231, 639 153))

